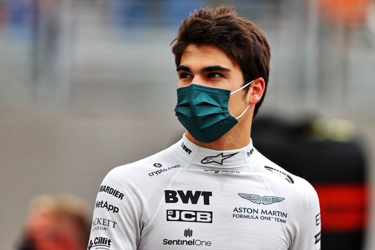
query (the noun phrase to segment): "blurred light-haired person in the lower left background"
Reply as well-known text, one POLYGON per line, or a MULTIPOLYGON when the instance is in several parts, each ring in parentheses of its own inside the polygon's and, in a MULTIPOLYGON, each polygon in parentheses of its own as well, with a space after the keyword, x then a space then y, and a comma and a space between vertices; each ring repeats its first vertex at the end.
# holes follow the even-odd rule
POLYGON ((90 233, 86 205, 72 196, 33 199, 20 250, 84 250, 90 233))

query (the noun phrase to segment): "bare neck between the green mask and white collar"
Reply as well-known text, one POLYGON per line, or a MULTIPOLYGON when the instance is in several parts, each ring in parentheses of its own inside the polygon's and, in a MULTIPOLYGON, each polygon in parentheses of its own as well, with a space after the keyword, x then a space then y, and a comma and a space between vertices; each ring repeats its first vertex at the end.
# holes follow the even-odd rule
POLYGON ((211 143, 198 142, 187 130, 186 138, 190 142, 202 148, 209 148, 219 151, 240 149, 246 147, 250 143, 251 123, 252 120, 250 120, 248 123, 239 122, 226 134, 211 143))

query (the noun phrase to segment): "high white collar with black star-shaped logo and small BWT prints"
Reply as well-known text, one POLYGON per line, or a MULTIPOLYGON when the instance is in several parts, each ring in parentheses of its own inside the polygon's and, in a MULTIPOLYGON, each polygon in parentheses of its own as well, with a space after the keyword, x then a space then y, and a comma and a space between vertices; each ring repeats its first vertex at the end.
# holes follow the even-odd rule
POLYGON ((173 147, 181 158, 190 163, 190 166, 223 170, 249 168, 255 161, 255 155, 259 154, 254 149, 252 140, 244 148, 219 151, 195 145, 186 138, 185 134, 173 147))

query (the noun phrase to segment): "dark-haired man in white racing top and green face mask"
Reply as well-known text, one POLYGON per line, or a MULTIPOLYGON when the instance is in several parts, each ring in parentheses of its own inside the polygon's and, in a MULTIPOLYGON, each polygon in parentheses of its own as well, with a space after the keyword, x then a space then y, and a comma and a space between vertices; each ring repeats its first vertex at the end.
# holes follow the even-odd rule
POLYGON ((252 146, 269 76, 264 35, 222 6, 191 14, 172 44, 186 134, 108 173, 89 249, 320 249, 314 188, 252 146))

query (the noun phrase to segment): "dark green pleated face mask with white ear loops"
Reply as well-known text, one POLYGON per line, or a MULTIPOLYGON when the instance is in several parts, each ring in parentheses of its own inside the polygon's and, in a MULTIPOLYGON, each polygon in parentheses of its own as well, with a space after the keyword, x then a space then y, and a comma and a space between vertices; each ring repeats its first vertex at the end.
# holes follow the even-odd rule
POLYGON ((198 142, 211 143, 222 137, 238 123, 228 110, 229 97, 250 83, 232 92, 191 84, 177 89, 177 105, 174 109, 181 124, 198 142))

